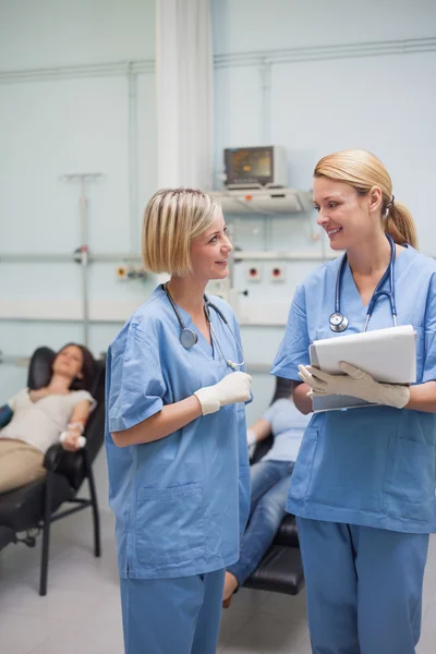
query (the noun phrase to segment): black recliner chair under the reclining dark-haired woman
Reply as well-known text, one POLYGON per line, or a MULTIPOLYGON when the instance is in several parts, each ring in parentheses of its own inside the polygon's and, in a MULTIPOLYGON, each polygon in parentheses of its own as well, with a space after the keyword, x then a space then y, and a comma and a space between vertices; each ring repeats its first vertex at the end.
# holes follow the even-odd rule
MULTIPOLYGON (((53 355, 55 352, 50 348, 38 348, 34 352, 27 378, 29 388, 36 389, 47 385, 53 355)), ((90 508, 94 521, 94 555, 100 556, 99 514, 92 464, 104 441, 105 367, 104 361, 97 361, 92 388, 97 407, 92 412, 84 432, 86 446, 77 452, 68 452, 60 444, 52 445, 44 461, 47 469, 45 480, 0 494, 0 549, 9 543, 24 543, 33 547, 36 543, 33 532, 43 532, 40 595, 47 593, 50 526, 56 520, 90 508), (77 497, 85 480, 88 482, 89 497, 77 497), (73 506, 60 509, 64 502, 73 506), (25 536, 20 535, 23 532, 25 536)))

